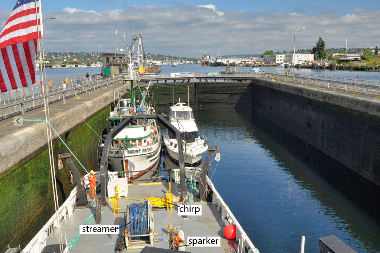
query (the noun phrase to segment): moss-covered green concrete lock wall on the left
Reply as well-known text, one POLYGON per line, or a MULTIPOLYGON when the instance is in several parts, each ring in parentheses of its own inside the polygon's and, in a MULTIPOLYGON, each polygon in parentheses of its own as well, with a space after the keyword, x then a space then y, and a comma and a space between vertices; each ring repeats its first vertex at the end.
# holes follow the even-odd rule
MULTIPOLYGON (((121 87, 116 94, 120 91, 121 87)), ((113 101, 113 92, 107 92, 51 118, 51 125, 87 171, 98 168, 99 136, 83 120, 100 133, 108 123, 105 119, 113 101)), ((6 136, 1 143, 0 251, 5 251, 8 244, 25 246, 54 213, 54 202, 45 123, 6 136)), ((53 147, 55 162, 58 153, 69 152, 57 136, 53 147)), ((86 173, 74 163, 82 175, 86 173)), ((70 182, 70 168, 65 161, 63 164, 64 168, 56 168, 55 173, 60 203, 76 186, 75 180, 73 184, 70 182)))

